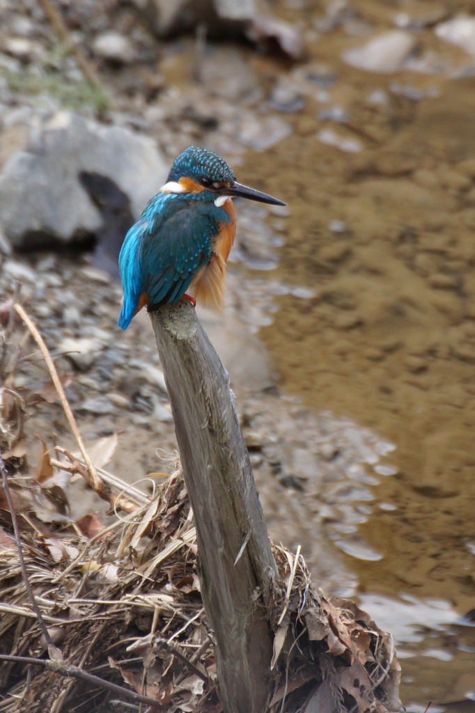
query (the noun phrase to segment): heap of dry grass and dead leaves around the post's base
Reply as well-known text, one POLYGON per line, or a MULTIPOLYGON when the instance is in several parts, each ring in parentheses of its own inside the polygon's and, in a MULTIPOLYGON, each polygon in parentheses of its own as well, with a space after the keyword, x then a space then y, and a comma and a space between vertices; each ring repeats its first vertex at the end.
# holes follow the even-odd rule
MULTIPOLYGON (((38 342, 34 325, 29 329, 38 342)), ((103 468, 91 468, 87 453, 79 458, 60 444, 48 451, 51 434, 39 434, 44 452, 39 467, 30 471, 19 448, 27 414, 25 394, 13 388, 18 359, 7 362, 1 375, 0 448, 40 617, 1 490, 0 659, 29 657, 44 665, 15 658, 0 662, 0 711, 219 713, 213 632, 200 597, 193 515, 179 461, 173 474, 145 496, 103 468), (111 525, 105 527, 92 514, 76 522, 68 518, 66 494, 57 480, 65 471, 78 473, 110 503, 111 525), (87 681, 78 679, 81 672, 89 674, 87 681), (135 691, 148 703, 137 697, 131 702, 106 682, 135 691)), ((51 357, 46 363, 61 396, 51 357)), ((68 414, 64 391, 61 401, 68 414)), ((71 429, 74 433, 76 424, 71 429)), ((322 595, 312 585, 300 549, 292 555, 275 546, 274 554, 280 580, 263 612, 275 635, 268 711, 397 709, 399 665, 389 635, 352 602, 322 595)))

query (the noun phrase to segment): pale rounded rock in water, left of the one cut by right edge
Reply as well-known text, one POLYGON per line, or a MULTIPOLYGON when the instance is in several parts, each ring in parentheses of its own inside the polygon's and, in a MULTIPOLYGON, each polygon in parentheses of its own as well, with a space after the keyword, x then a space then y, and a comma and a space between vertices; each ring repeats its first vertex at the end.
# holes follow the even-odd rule
POLYGON ((362 47, 344 51, 342 60, 369 72, 395 72, 402 68, 415 43, 409 32, 393 30, 375 37, 362 47))

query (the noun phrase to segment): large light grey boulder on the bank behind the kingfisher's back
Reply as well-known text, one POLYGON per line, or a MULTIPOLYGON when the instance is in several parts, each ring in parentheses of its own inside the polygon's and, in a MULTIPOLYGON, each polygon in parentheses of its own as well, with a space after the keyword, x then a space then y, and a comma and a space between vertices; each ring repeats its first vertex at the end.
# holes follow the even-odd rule
POLYGON ((28 148, 0 174, 0 223, 14 246, 44 243, 45 235, 69 242, 101 227, 101 214, 78 180, 81 171, 113 180, 137 219, 168 168, 151 138, 58 111, 31 130, 28 148))

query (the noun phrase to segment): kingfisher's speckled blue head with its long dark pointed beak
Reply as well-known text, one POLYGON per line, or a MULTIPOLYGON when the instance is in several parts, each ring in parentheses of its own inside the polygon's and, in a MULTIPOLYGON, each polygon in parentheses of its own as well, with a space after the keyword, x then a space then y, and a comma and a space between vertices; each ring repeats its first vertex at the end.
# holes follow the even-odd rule
POLYGON ((200 193, 211 193, 208 200, 215 200, 216 205, 221 205, 228 198, 249 198, 261 203, 287 205, 272 198, 272 195, 237 183, 233 169, 224 158, 195 146, 188 146, 175 158, 162 190, 165 193, 190 193, 197 197, 200 193))

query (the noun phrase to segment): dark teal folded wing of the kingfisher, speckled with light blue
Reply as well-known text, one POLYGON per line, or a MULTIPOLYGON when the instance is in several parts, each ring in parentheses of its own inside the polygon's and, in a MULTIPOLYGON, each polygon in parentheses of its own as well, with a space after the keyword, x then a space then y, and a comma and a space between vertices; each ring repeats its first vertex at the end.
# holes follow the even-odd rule
POLYGON ((210 260, 218 221, 205 210, 183 209, 150 225, 142 245, 142 291, 150 304, 177 302, 210 260))

